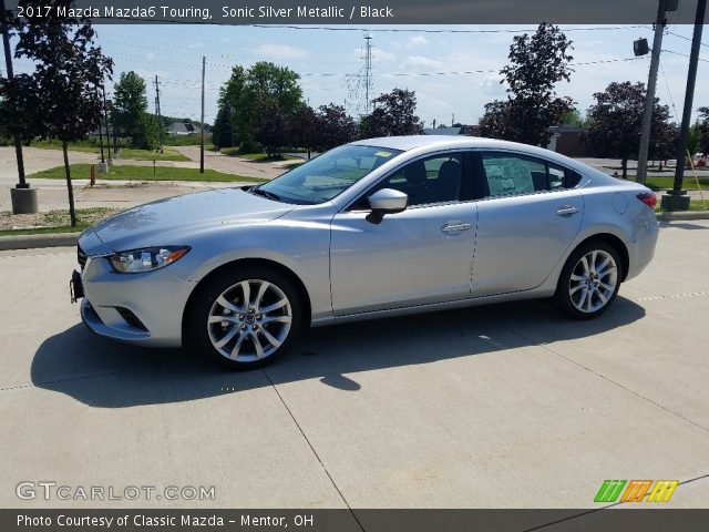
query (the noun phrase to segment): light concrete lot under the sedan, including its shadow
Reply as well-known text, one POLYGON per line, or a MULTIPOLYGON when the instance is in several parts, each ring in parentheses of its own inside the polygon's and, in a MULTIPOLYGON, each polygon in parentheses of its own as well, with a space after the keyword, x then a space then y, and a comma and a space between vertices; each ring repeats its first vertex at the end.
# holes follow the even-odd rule
POLYGON ((527 301, 335 326, 240 374, 90 334, 74 249, 1 252, 0 507, 106 505, 16 497, 55 481, 216 489, 112 508, 593 508, 605 479, 679 479, 667 505, 707 508, 705 232, 664 226, 593 321, 527 301))

